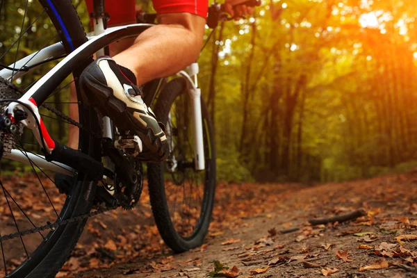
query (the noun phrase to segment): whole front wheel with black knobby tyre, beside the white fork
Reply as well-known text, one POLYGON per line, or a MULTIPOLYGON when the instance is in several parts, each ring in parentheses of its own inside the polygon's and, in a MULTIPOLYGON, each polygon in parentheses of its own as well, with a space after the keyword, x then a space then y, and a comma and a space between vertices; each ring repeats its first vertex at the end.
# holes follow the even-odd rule
POLYGON ((213 127, 202 100, 204 161, 196 171, 193 162, 193 125, 186 81, 167 83, 154 112, 166 127, 170 144, 167 161, 148 164, 149 197, 159 233, 175 252, 203 243, 215 195, 215 145, 213 127))

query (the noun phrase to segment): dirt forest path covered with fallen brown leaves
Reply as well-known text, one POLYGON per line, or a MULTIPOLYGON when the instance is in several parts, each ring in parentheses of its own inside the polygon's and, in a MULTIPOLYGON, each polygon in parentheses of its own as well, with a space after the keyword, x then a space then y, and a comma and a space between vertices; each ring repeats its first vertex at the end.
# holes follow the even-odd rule
POLYGON ((145 195, 133 211, 90 219, 58 277, 417 277, 416 183, 417 170, 320 185, 220 183, 204 245, 182 254, 163 244, 145 195), (366 215, 350 222, 308 222, 359 208, 366 215))

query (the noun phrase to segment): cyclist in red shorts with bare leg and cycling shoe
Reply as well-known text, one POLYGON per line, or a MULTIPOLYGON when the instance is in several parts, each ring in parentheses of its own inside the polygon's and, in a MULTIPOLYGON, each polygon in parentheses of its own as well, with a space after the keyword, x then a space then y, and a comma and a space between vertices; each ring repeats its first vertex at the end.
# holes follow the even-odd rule
MULTIPOLYGON (((237 0, 242 2, 241 0, 237 0)), ((238 19, 253 8, 226 0, 224 11, 238 19)), ((154 0, 158 25, 152 26, 134 44, 110 58, 102 56, 81 74, 81 86, 101 113, 115 122, 122 133, 137 135, 150 161, 165 158, 167 138, 163 124, 142 101, 138 85, 175 74, 197 60, 202 47, 208 0, 154 0)), ((92 11, 92 0, 87 0, 92 11)), ((135 0, 107 1, 109 24, 136 21, 135 0)))

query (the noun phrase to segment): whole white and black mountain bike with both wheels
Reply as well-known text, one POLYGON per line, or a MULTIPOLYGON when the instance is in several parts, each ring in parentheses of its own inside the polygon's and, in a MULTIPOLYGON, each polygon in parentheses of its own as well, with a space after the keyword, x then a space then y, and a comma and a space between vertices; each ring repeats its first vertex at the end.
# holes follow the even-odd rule
MULTIPOLYGON (((212 27, 227 19, 220 10, 210 8, 212 27)), ((70 0, 0 2, 0 276, 54 277, 89 217, 132 209, 142 193, 140 140, 120 138, 85 97, 79 75, 94 54, 137 37, 156 17, 105 28, 104 0, 95 0, 93 17, 95 32, 86 35, 70 0), (50 38, 28 40, 37 33, 50 38), (77 149, 64 144, 69 125, 79 129, 77 149), (54 174, 70 186, 60 188, 54 174)), ((163 163, 147 163, 147 179, 156 225, 175 252, 202 244, 215 195, 213 126, 198 72, 193 63, 143 88, 145 103, 166 126, 170 152, 163 163)))

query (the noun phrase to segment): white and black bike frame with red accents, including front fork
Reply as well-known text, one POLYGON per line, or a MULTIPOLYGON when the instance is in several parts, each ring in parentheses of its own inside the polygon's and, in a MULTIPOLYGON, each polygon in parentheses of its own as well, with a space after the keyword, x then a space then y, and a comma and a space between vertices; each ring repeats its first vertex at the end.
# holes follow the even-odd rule
MULTIPOLYGON (((28 127, 32 130, 35 138, 38 140, 38 143, 41 146, 45 146, 45 152, 47 155, 51 155, 55 149, 55 142, 52 140, 51 136, 49 135, 46 127, 42 122, 42 118, 38 112, 38 106, 40 106, 53 92, 55 88, 62 83, 67 76, 72 73, 72 70, 76 67, 76 65, 80 65, 84 63, 85 60, 88 60, 97 49, 102 49, 106 47, 108 44, 115 42, 117 40, 122 40, 124 38, 129 37, 136 37, 147 28, 153 26, 153 24, 131 24, 126 26, 117 26, 108 28, 106 30, 100 30, 99 34, 93 35, 89 38, 88 42, 85 42, 81 47, 75 49, 70 55, 65 57, 56 67, 51 69, 47 74, 45 74, 32 88, 30 88, 20 99, 24 105, 18 104, 17 102, 12 102, 8 106, 8 115, 14 118, 14 109, 19 108, 21 110, 28 112, 28 119, 22 121, 24 126, 28 127), (36 122, 40 123, 40 129, 36 122), (41 139, 41 134, 42 138, 41 139)), ((31 54, 31 56, 27 56, 22 60, 17 61, 16 67, 20 67, 19 65, 25 65, 26 67, 32 67, 31 70, 34 70, 34 66, 42 63, 45 59, 50 58, 57 58, 65 54, 65 49, 63 48, 62 44, 56 43, 42 49, 41 51, 36 52, 35 54, 31 54)), ((13 65, 12 65, 13 67, 13 65)), ((194 63, 188 70, 179 72, 179 75, 183 76, 187 81, 188 92, 190 98, 192 99, 191 103, 192 111, 193 111, 193 125, 194 129, 193 132, 195 138, 195 170, 204 170, 204 143, 203 143, 203 129, 202 129, 202 112, 201 112, 201 92, 197 87, 197 73, 198 73, 198 65, 194 63), (192 79, 194 78, 194 81, 192 79)), ((3 69, 0 71, 0 76, 5 79, 11 78, 12 72, 7 69, 3 69)), ((19 72, 17 77, 22 77, 26 74, 26 72, 19 72)), ((156 94, 156 92, 152 92, 156 94)), ((154 97, 149 98, 154 99, 154 97)), ((148 104, 150 105, 150 104, 148 104)), ((104 136, 112 136, 112 124, 110 121, 105 122, 104 126, 104 136)), ((110 137, 110 138, 112 138, 110 137)), ((70 149, 70 148, 68 148, 70 149)), ((30 160, 22 153, 19 152, 12 152, 12 154, 8 154, 4 156, 5 158, 9 158, 15 161, 25 162, 30 164, 30 160)), ((44 169, 51 170, 54 172, 62 172, 64 174, 75 174, 76 169, 72 167, 68 167, 67 165, 63 164, 64 161, 60 161, 60 158, 55 159, 53 162, 47 162, 44 156, 31 156, 31 161, 37 163, 38 165, 42 165, 44 169)), ((107 166, 107 165, 106 165, 107 166)))

